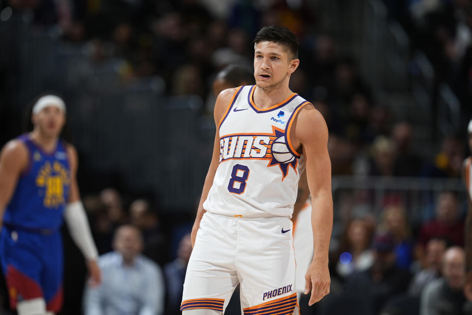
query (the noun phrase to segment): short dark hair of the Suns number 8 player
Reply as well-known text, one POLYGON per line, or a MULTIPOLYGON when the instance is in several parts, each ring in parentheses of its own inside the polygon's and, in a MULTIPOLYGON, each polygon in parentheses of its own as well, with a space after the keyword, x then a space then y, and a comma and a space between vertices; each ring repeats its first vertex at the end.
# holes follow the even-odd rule
POLYGON ((257 32, 254 38, 254 46, 263 41, 281 44, 289 50, 292 59, 298 58, 298 39, 295 34, 287 28, 276 25, 263 27, 257 32))

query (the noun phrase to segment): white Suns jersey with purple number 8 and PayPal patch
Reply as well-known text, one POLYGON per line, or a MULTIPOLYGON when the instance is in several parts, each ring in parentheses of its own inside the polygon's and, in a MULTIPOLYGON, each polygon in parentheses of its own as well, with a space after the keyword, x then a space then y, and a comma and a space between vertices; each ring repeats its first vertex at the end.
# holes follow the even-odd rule
POLYGON ((239 87, 219 123, 220 161, 203 207, 225 216, 292 218, 305 161, 289 132, 308 102, 294 93, 259 109, 255 88, 239 87))

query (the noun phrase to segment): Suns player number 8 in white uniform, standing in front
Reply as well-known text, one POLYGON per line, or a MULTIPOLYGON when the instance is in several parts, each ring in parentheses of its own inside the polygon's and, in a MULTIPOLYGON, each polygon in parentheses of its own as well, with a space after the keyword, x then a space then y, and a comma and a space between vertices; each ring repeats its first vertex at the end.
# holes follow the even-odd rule
MULTIPOLYGON (((222 314, 234 288, 246 315, 298 314, 292 211, 306 165, 314 255, 309 304, 329 292, 331 164, 322 115, 289 89, 299 64, 290 30, 262 28, 254 40, 255 86, 221 92, 212 160, 192 230, 183 315, 222 314)), ((311 250, 311 249, 307 249, 311 250)))

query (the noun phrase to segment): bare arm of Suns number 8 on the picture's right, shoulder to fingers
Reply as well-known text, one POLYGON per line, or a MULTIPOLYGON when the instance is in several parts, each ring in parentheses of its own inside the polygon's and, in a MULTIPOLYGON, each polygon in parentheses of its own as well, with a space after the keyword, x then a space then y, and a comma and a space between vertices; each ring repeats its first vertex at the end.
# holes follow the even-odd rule
POLYGON ((313 260, 305 275, 305 294, 311 291, 309 305, 329 293, 328 249, 333 225, 331 161, 327 150, 328 129, 319 111, 305 106, 296 119, 294 146, 301 146, 306 158, 306 177, 311 193, 313 260))

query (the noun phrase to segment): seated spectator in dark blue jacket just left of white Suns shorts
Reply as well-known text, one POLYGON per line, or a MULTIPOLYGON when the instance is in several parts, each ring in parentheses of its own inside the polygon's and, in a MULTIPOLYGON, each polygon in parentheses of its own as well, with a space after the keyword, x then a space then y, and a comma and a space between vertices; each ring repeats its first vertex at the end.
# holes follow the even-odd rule
POLYGON ((166 315, 179 315, 182 302, 183 282, 187 264, 192 253, 192 241, 190 234, 186 234, 180 240, 177 249, 177 258, 164 266, 166 280, 166 315))

